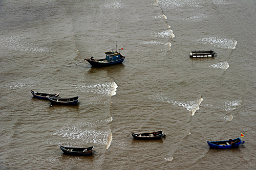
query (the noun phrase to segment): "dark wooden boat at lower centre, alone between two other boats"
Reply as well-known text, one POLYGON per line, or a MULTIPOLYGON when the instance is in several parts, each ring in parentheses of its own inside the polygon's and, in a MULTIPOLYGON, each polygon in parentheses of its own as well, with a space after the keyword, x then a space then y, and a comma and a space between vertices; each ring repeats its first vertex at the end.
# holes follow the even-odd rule
POLYGON ((132 133, 132 136, 134 139, 142 139, 142 140, 148 140, 148 139, 161 139, 165 138, 165 134, 163 131, 155 131, 155 132, 147 132, 147 133, 132 133))

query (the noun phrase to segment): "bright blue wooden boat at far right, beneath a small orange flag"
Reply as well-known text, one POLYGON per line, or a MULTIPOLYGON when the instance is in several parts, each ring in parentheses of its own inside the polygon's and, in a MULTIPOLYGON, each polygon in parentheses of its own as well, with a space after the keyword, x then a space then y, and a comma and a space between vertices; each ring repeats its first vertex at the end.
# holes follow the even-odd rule
POLYGON ((244 141, 240 139, 240 137, 236 139, 229 139, 229 140, 220 140, 220 141, 207 141, 210 148, 219 148, 219 149, 229 149, 229 148, 237 148, 244 141))

